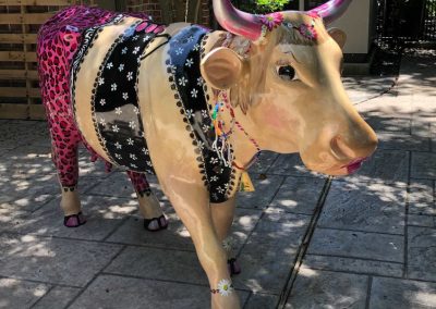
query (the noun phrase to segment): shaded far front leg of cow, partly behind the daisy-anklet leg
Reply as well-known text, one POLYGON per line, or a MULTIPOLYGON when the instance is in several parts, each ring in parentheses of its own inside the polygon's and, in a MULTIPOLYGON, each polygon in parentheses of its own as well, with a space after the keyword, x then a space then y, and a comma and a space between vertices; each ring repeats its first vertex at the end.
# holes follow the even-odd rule
POLYGON ((218 240, 226 250, 230 274, 239 274, 241 272, 241 267, 232 250, 232 239, 228 237, 233 223, 235 203, 237 196, 234 195, 225 202, 210 205, 215 231, 217 232, 218 240))

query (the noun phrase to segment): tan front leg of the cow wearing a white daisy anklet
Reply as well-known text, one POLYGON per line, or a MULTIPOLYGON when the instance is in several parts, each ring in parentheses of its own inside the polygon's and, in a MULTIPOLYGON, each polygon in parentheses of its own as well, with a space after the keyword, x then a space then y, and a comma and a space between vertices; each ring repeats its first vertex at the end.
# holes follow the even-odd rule
POLYGON ((239 297, 230 287, 227 255, 214 227, 207 190, 175 175, 161 181, 161 185, 194 242, 209 281, 211 308, 240 308, 239 297))

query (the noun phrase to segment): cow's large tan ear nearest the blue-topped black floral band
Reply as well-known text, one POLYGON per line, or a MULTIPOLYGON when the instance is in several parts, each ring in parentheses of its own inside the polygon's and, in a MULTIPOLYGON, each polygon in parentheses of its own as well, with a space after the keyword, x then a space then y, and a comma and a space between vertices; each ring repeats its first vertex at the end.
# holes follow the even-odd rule
POLYGON ((210 51, 199 65, 203 78, 216 89, 229 89, 241 78, 243 60, 233 50, 219 47, 210 51))

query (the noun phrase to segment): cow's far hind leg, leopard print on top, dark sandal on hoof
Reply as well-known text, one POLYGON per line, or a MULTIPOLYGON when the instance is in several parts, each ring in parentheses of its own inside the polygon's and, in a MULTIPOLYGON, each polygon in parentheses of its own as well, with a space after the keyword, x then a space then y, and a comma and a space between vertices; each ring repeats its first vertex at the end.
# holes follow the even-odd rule
POLYGON ((159 200, 152 191, 145 174, 128 171, 128 175, 135 188, 140 211, 144 217, 144 228, 159 231, 168 227, 168 221, 160 208, 159 200))

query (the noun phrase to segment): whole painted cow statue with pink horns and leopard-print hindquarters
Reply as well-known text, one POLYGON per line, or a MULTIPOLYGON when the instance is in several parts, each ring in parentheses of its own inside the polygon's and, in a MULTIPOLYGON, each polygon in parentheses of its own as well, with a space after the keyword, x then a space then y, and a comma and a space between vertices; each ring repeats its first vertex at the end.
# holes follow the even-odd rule
POLYGON ((145 218, 167 224, 143 173, 155 173, 187 227, 213 308, 239 308, 222 242, 241 175, 261 150, 299 152, 347 175, 377 138, 340 78, 344 34, 326 26, 351 0, 252 15, 214 0, 227 32, 73 7, 39 32, 38 61, 62 207, 83 223, 76 145, 129 171, 145 218))

